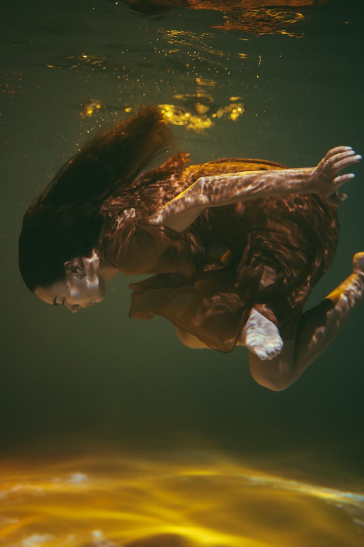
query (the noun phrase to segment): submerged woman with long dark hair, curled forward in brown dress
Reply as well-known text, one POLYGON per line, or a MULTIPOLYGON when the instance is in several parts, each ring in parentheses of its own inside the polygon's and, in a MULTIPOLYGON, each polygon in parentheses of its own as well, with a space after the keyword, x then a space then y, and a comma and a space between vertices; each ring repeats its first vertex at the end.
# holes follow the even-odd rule
POLYGON ((187 167, 177 153, 144 172, 170 144, 154 108, 86 144, 25 214, 23 280, 75 312, 103 300, 119 272, 154 274, 132 284, 130 316, 168 318, 189 347, 246 346, 254 379, 284 389, 363 297, 358 253, 354 273, 302 312, 335 254, 339 188, 354 178, 339 172, 361 156, 341 146, 317 167, 289 169, 252 159, 187 167))

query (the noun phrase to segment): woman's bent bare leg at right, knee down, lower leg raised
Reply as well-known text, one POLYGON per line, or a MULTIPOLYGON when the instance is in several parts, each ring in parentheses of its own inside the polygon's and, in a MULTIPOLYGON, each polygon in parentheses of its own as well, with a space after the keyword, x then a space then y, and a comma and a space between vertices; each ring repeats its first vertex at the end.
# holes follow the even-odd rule
POLYGON ((364 297, 364 253, 355 254, 353 265, 353 274, 303 314, 295 339, 284 341, 281 354, 261 361, 249 352, 250 372, 260 385, 273 391, 287 388, 335 338, 364 297))

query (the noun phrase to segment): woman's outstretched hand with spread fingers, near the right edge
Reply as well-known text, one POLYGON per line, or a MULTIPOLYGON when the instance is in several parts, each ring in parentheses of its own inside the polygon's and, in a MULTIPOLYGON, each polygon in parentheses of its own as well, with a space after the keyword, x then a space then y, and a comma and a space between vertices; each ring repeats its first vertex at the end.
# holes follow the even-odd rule
POLYGON ((342 184, 353 180, 355 174, 339 175, 338 173, 360 160, 361 156, 355 154, 350 146, 332 148, 313 170, 312 191, 324 196, 332 205, 339 205, 347 197, 346 194, 339 192, 339 188, 342 184))

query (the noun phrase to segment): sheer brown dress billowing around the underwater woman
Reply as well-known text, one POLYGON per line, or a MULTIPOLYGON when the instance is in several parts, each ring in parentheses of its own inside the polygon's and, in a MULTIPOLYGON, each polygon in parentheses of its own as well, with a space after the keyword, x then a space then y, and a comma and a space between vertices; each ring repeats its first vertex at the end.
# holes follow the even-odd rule
POLYGON ((161 315, 229 352, 254 307, 283 339, 293 337, 335 253, 336 208, 317 194, 300 194, 210 208, 182 233, 148 223, 201 176, 283 168, 247 159, 186 167, 188 157, 177 153, 102 208, 100 256, 124 274, 156 274, 130 285, 130 316, 161 315))

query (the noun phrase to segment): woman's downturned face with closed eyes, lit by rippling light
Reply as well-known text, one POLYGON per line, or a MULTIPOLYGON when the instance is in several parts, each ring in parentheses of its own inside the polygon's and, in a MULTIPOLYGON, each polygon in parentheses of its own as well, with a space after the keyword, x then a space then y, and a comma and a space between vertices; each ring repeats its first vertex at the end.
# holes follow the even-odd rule
POLYGON ((66 270, 63 280, 49 287, 37 287, 34 293, 47 304, 64 305, 73 313, 80 308, 92 306, 94 302, 101 302, 105 296, 104 282, 99 277, 97 269, 94 269, 94 265, 90 267, 90 260, 83 261, 86 263, 86 270, 66 270))

